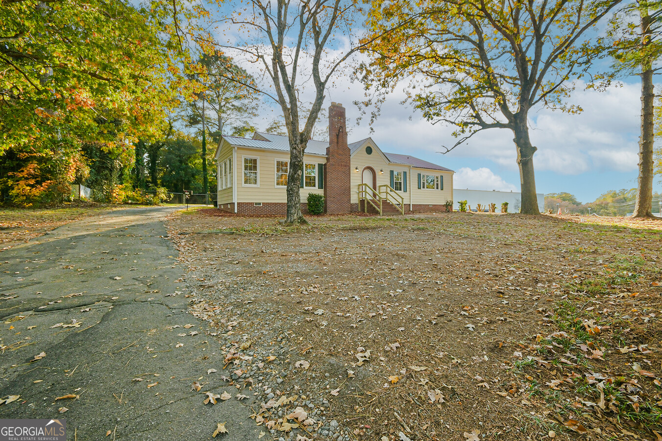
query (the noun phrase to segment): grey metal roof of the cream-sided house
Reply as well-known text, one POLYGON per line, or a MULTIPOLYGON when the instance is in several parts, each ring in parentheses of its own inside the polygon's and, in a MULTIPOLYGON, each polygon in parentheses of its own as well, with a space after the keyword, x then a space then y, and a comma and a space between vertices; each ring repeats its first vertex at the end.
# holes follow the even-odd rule
MULTIPOLYGON (((253 148, 263 148, 265 150, 281 150, 283 152, 289 152, 289 139, 287 136, 265 133, 265 132, 255 132, 253 138, 240 138, 238 136, 223 136, 223 138, 232 144, 233 146, 242 146, 242 147, 253 147, 253 148)), ((365 138, 360 141, 352 142, 348 144, 350 148, 350 155, 354 154, 356 150, 361 148, 363 144, 370 138, 365 138)), ((326 156, 326 148, 328 147, 327 141, 318 141, 318 140, 308 140, 308 145, 306 146, 306 153, 312 155, 326 156)), ((375 144, 376 146, 377 144, 375 144)), ((381 150, 381 149, 380 149, 381 150)), ((416 168, 427 168, 430 170, 442 170, 444 172, 452 172, 448 168, 438 166, 437 164, 432 164, 432 162, 427 162, 422 159, 414 158, 414 156, 409 155, 399 155, 395 153, 386 153, 382 152, 387 160, 393 164, 404 164, 406 166, 412 166, 416 168)))

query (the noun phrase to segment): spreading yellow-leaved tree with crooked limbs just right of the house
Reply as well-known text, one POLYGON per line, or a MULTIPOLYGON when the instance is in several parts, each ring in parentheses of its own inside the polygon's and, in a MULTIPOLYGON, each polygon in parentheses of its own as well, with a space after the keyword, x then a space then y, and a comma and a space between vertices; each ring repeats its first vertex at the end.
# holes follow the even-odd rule
POLYGON ((529 113, 581 110, 565 99, 600 56, 599 39, 585 34, 620 1, 373 0, 373 36, 392 32, 371 44, 365 83, 389 91, 411 78, 407 90, 424 117, 457 128, 447 152, 481 130, 511 130, 522 213, 536 215, 529 113))

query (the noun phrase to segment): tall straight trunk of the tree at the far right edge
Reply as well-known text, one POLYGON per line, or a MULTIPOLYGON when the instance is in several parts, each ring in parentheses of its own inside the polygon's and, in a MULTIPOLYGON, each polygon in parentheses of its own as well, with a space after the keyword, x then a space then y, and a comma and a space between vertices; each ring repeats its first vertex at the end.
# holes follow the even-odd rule
MULTIPOLYGON (((641 44, 650 38, 650 17, 641 12, 641 44)), ((641 63, 641 136, 639 136, 639 178, 637 201, 632 217, 653 217, 653 69, 647 57, 641 63)))

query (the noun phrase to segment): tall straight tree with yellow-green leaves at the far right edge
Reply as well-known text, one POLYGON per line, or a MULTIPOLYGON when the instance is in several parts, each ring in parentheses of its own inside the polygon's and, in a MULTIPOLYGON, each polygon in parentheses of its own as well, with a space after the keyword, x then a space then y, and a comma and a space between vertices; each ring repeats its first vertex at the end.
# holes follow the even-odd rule
POLYGON ((655 91, 653 75, 662 69, 662 1, 633 0, 612 20, 612 54, 618 70, 641 78, 639 177, 632 217, 653 217, 653 143, 655 91))

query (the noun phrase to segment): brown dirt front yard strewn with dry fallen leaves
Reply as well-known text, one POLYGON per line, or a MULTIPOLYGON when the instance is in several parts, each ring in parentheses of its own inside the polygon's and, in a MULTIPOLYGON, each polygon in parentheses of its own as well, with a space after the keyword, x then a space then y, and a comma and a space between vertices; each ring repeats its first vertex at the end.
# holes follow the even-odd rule
POLYGON ((169 236, 273 439, 659 441, 662 222, 598 221, 206 209, 169 236))

